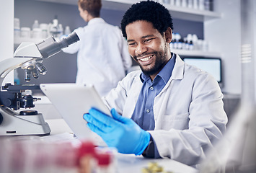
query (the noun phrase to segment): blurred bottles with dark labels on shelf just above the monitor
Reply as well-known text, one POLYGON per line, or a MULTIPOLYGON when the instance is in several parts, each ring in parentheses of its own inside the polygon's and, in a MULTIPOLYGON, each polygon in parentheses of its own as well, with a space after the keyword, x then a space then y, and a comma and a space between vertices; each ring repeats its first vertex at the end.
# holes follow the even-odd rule
POLYGON ((179 33, 172 33, 172 42, 170 43, 171 50, 200 50, 208 51, 208 43, 206 40, 198 39, 195 34, 188 34, 187 37, 182 37, 179 33))

